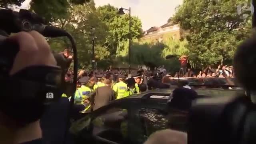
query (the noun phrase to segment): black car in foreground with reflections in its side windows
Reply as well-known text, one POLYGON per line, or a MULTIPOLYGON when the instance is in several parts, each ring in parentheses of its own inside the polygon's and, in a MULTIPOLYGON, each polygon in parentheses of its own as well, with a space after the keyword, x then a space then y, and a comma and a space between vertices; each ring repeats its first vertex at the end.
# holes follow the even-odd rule
MULTIPOLYGON (((198 96, 232 96, 242 90, 196 89, 198 96)), ((152 90, 110 102, 73 122, 76 144, 142 144, 157 130, 186 132, 186 111, 167 111, 172 89, 152 90)))

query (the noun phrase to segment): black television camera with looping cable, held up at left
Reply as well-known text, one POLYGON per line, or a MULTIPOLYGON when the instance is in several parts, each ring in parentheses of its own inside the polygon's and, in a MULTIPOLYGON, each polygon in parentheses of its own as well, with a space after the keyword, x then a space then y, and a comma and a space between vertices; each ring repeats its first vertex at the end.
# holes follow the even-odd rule
MULTIPOLYGON (((54 66, 30 66, 20 70, 16 74, 10 75, 10 70, 16 54, 19 52, 19 45, 8 39, 12 33, 37 31, 44 37, 55 38, 67 36, 72 44, 74 55, 74 77, 73 92, 76 90, 76 79, 78 71, 78 58, 76 44, 72 36, 60 28, 45 25, 43 19, 35 13, 21 9, 19 12, 13 10, 0 10, 0 80, 1 87, 0 109, 10 118, 17 121, 31 122, 33 114, 17 114, 15 104, 28 104, 31 108, 34 100, 47 105, 55 102, 61 97, 60 85, 62 69, 54 66), (13 90, 15 88, 15 90, 13 90), (17 92, 19 92, 17 94, 17 92), (29 103, 30 102, 30 103, 29 103)), ((74 96, 70 100, 69 118, 74 104, 74 96)), ((17 105, 16 105, 17 106, 17 105)), ((19 110, 23 110, 18 108, 19 110)), ((30 112, 31 113, 31 112, 30 112)), ((67 120, 67 124, 70 119, 67 120)))

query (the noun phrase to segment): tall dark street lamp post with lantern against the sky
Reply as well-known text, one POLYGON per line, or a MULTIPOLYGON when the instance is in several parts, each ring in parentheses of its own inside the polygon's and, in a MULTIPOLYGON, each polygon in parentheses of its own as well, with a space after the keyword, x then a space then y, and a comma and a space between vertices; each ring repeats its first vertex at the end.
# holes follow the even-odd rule
POLYGON ((129 49, 128 49, 128 55, 129 55, 129 74, 131 74, 131 46, 132 46, 132 33, 131 33, 131 7, 129 9, 126 8, 119 8, 118 14, 122 15, 125 14, 124 10, 129 11, 129 49))

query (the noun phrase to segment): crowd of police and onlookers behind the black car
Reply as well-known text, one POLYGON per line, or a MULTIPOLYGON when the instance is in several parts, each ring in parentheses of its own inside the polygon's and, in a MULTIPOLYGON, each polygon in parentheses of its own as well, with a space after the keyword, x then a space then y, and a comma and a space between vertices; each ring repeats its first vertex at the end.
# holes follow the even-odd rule
MULTIPOLYGON (((69 62, 72 59, 71 53, 65 50, 62 52, 62 55, 66 58, 68 64, 70 64, 69 62)), ((111 67, 107 70, 95 69, 89 71, 86 69, 86 66, 84 66, 78 71, 77 89, 74 97, 76 112, 92 112, 113 100, 124 98, 132 94, 138 94, 156 88, 174 87, 174 85, 172 85, 172 77, 233 78, 232 66, 219 65, 218 68, 207 66, 207 68, 200 70, 198 74, 196 74, 193 69, 188 68, 188 57, 183 57, 184 58, 180 59, 182 61, 180 72, 176 72, 174 75, 168 73, 164 66, 155 67, 153 70, 140 67, 138 70, 132 70, 131 74, 129 74, 128 70, 117 70, 111 67), (186 60, 186 62, 184 62, 184 60, 186 60)), ((65 81, 71 83, 73 75, 74 72, 72 68, 66 69, 65 81)), ((182 87, 191 89, 190 86, 185 85, 182 87)), ((185 93, 187 93, 187 91, 185 93)), ((62 94, 62 96, 70 97, 70 95, 66 94, 62 94)), ((175 100, 172 100, 172 102, 174 101, 175 100)), ((179 108, 184 105, 178 102, 175 103, 176 105, 174 105, 179 108)), ((184 136, 182 139, 185 142, 186 134, 184 133, 181 134, 181 136, 182 135, 184 136)), ((154 137, 149 138, 146 143, 151 143, 152 141, 154 141, 154 137)))

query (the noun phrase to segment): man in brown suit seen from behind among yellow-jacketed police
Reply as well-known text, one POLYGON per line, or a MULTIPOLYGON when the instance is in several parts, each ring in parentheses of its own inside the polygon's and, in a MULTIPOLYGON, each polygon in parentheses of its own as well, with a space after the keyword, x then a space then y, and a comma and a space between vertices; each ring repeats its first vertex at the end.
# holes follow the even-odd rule
POLYGON ((115 91, 111 88, 111 80, 104 81, 105 86, 96 88, 90 96, 92 110, 96 110, 102 106, 107 105, 112 100, 115 100, 115 91))

